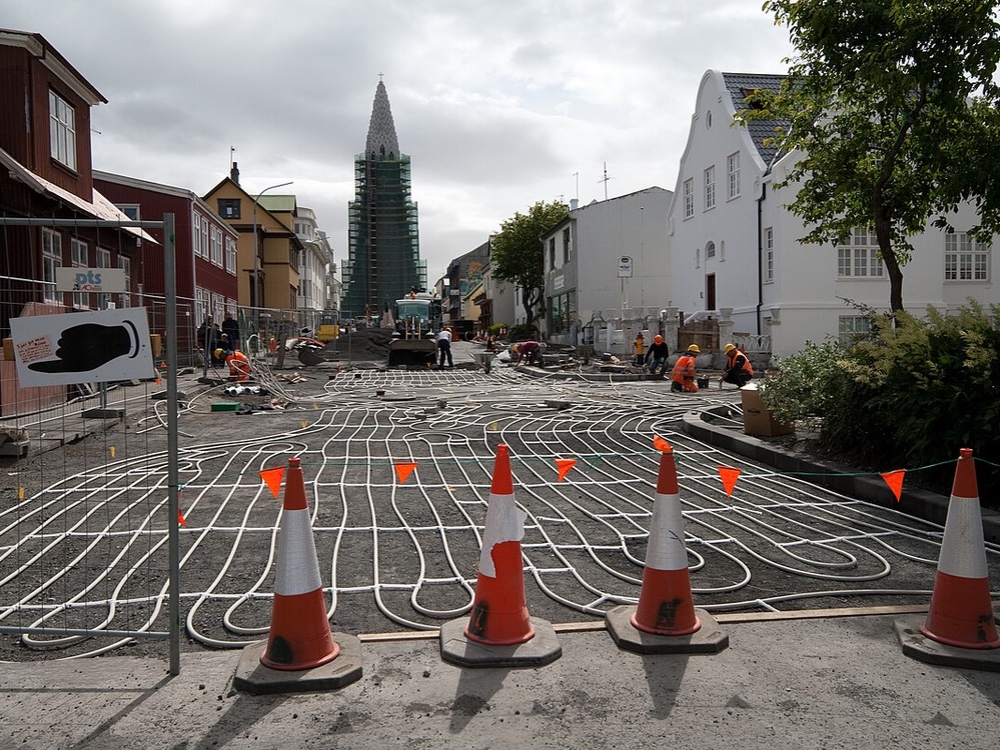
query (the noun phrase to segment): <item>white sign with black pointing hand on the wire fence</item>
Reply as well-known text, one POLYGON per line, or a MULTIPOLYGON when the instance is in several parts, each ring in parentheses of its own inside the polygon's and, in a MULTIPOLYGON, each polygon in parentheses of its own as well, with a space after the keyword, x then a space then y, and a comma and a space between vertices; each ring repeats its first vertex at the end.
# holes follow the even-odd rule
POLYGON ((146 308, 11 318, 22 388, 150 378, 146 308))

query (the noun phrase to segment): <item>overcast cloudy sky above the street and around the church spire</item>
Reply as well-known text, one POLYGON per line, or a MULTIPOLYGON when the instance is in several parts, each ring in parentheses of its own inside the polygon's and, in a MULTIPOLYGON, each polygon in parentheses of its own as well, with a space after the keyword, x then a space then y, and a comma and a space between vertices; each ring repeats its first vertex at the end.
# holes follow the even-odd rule
POLYGON ((104 97, 94 168, 204 195, 294 185, 347 253, 379 74, 420 250, 448 262, 539 200, 675 188, 702 75, 784 73, 761 0, 0 0, 104 97), (605 163, 608 180, 604 181, 605 163))

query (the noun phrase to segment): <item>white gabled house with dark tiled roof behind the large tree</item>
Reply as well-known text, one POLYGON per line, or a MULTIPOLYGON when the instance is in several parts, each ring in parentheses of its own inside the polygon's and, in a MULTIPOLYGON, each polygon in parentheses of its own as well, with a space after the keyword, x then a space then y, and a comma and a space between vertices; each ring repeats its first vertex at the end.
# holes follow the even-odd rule
MULTIPOLYGON (((777 153, 764 139, 773 123, 732 125, 755 90, 776 90, 783 76, 720 73, 701 80, 667 220, 672 298, 684 316, 725 318, 750 350, 787 357, 807 340, 849 336, 866 325, 845 302, 886 310, 889 280, 874 237, 864 231, 840 247, 808 245, 802 221, 785 208, 795 185, 775 189, 801 158, 777 153)), ((976 223, 971 207, 952 217, 955 233, 928 226, 912 238, 903 267, 903 302, 922 314, 928 306, 954 311, 968 298, 998 297, 991 250, 964 230, 976 223)))

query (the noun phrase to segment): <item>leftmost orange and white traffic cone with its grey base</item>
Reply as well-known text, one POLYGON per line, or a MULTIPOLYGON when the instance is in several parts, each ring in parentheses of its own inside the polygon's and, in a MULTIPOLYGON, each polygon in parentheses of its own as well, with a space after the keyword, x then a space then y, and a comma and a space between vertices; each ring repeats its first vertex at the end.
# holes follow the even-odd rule
POLYGON ((236 687, 252 693, 294 692, 338 688, 360 679, 359 639, 338 633, 338 644, 330 632, 298 458, 288 459, 275 557, 268 639, 244 649, 236 687), (345 639, 350 643, 342 650, 345 639), (349 652, 346 658, 342 651, 349 652), (258 664, 251 663, 254 656, 258 664))

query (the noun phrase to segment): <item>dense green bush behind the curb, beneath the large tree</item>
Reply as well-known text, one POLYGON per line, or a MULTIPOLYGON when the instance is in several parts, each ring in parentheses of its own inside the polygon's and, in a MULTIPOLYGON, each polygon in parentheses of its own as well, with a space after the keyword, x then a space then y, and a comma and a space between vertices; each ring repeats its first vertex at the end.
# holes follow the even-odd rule
POLYGON ((870 340, 807 343, 779 363, 761 393, 775 418, 812 423, 861 468, 925 469, 915 479, 946 494, 972 448, 980 498, 1000 503, 1000 307, 871 319, 870 340))

